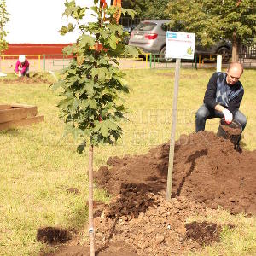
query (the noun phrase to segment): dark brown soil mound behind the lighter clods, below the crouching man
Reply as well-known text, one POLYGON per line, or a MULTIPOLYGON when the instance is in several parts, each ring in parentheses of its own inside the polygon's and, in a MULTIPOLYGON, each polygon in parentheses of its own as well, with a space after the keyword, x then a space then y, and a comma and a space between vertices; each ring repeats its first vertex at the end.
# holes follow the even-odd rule
MULTIPOLYGON (((154 194, 164 194, 169 143, 148 154, 108 159, 96 172, 99 186, 112 195, 124 195, 133 184, 154 194)), ((256 213, 256 151, 234 150, 234 145, 213 132, 183 135, 175 145, 172 197, 180 195, 213 209, 256 213)), ((145 195, 144 195, 145 196, 145 195)))

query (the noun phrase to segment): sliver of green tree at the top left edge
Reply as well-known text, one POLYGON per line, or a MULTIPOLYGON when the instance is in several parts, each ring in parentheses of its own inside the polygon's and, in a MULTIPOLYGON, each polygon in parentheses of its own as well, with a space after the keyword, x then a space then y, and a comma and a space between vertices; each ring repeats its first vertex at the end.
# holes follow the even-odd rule
MULTIPOLYGON (((7 36, 5 25, 9 21, 9 13, 6 10, 5 0, 0 0, 0 55, 8 48, 8 44, 4 39, 7 36)), ((0 71, 1 71, 1 58, 0 58, 0 71)))

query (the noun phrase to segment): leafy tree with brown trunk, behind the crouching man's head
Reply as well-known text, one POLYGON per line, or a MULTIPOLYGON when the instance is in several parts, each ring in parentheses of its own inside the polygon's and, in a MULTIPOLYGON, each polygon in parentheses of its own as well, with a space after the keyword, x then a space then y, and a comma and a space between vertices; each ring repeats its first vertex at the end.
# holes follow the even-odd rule
POLYGON ((172 24, 195 32, 202 45, 229 39, 233 44, 232 61, 238 61, 241 44, 256 37, 255 0, 172 0, 167 12, 172 24))

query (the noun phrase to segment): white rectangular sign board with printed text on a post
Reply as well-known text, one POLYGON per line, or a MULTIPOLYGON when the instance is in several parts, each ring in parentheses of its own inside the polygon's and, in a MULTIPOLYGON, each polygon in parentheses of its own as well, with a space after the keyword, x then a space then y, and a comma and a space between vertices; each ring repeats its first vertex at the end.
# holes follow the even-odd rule
POLYGON ((166 32, 166 59, 194 59, 195 33, 166 32))

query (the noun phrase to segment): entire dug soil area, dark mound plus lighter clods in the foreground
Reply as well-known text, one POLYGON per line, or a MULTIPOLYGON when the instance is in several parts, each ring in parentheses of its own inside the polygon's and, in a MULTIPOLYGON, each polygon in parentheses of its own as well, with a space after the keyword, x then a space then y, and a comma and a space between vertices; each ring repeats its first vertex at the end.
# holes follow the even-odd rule
MULTIPOLYGON (((113 157, 96 172, 113 195, 96 204, 96 255, 183 255, 219 241, 222 227, 186 219, 214 212, 256 213, 256 151, 243 150, 212 132, 180 137, 175 145, 172 200, 166 201, 169 143, 148 154, 113 157)), ((230 224, 229 224, 230 227, 230 224)), ((89 255, 71 242, 55 254, 89 255)))

